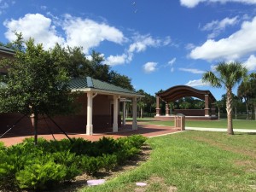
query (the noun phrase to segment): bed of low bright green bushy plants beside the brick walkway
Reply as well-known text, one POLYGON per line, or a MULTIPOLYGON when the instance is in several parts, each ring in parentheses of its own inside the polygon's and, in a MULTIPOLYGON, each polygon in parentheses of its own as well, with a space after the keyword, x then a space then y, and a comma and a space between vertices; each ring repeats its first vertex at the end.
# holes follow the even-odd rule
POLYGON ((0 190, 48 190, 82 173, 108 172, 137 155, 145 141, 137 135, 96 142, 40 138, 37 146, 28 138, 9 148, 0 143, 0 190))

